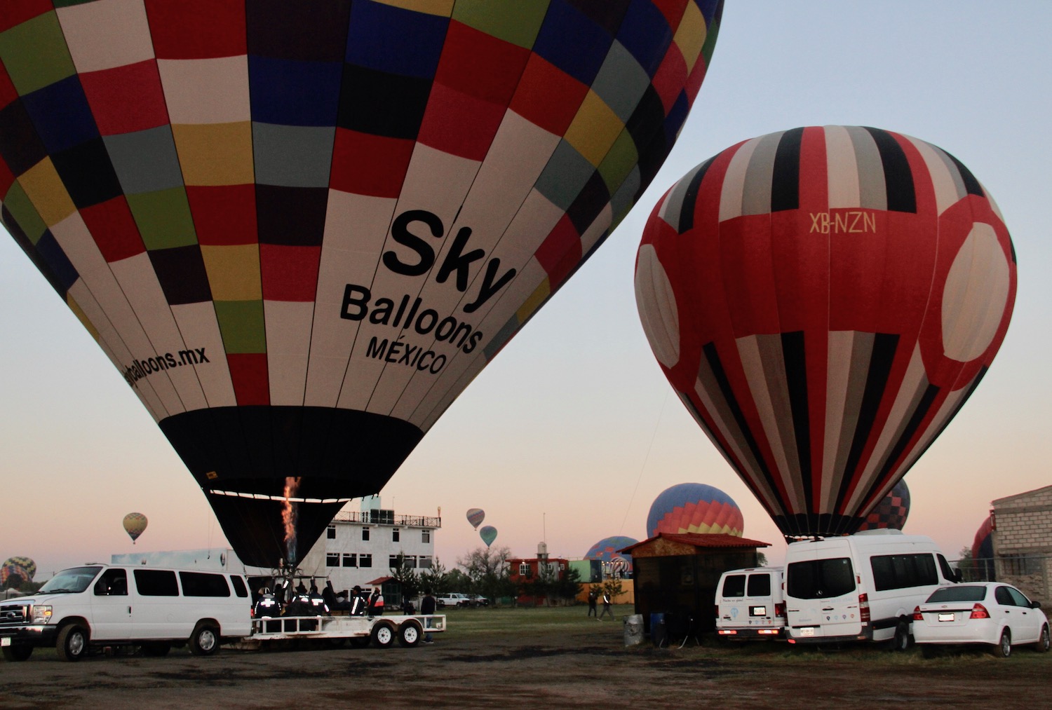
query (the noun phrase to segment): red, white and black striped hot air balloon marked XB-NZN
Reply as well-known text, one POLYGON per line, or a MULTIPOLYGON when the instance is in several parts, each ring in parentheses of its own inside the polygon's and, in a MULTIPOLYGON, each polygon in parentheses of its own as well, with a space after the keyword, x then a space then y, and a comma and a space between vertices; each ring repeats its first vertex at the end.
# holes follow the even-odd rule
POLYGON ((983 379, 1016 286, 968 168, 858 126, 702 163, 654 207, 635 268, 663 371, 790 537, 862 525, 983 379))

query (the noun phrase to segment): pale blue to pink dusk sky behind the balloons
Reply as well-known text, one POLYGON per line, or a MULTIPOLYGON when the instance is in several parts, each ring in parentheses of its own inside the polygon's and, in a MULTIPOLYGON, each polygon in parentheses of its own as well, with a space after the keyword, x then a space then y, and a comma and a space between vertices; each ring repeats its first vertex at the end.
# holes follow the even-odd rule
MULTIPOLYGON (((482 543, 581 557, 642 540, 650 503, 716 486, 745 535, 785 543, 673 394, 632 288, 651 208, 690 168, 739 141, 806 125, 868 125, 954 155, 989 189, 1018 258, 1015 313, 990 372, 906 476, 906 532, 950 559, 994 499, 1052 483, 1048 364, 1052 246, 1052 3, 726 0, 712 64, 671 156, 629 216, 471 383, 382 491, 397 514, 442 510, 446 567, 482 543), (1048 270, 1046 270, 1048 269, 1048 270)), ((120 373, 15 242, 0 239, 0 559, 38 579, 133 550, 225 546, 200 488, 120 373), (133 547, 121 519, 149 527, 133 547)), ((351 506, 357 509, 357 502, 351 506)))

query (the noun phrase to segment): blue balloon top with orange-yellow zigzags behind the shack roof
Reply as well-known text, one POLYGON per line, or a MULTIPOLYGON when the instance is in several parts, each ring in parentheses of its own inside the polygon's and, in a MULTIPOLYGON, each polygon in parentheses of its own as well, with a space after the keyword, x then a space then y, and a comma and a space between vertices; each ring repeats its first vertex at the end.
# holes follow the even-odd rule
POLYGON ((650 504, 647 534, 726 533, 742 536, 742 509, 727 493, 704 483, 681 483, 663 490, 650 504))

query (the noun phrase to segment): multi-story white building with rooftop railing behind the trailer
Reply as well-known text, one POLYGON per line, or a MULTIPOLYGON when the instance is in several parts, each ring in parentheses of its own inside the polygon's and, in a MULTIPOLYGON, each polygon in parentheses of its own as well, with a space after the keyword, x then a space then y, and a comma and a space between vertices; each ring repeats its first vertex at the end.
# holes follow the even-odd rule
POLYGON ((430 569, 434 533, 441 527, 439 515, 396 515, 380 506, 380 496, 371 495, 362 499, 361 510, 337 513, 300 569, 319 580, 328 579, 337 591, 356 585, 364 589, 390 575, 399 554, 417 571, 430 569))

